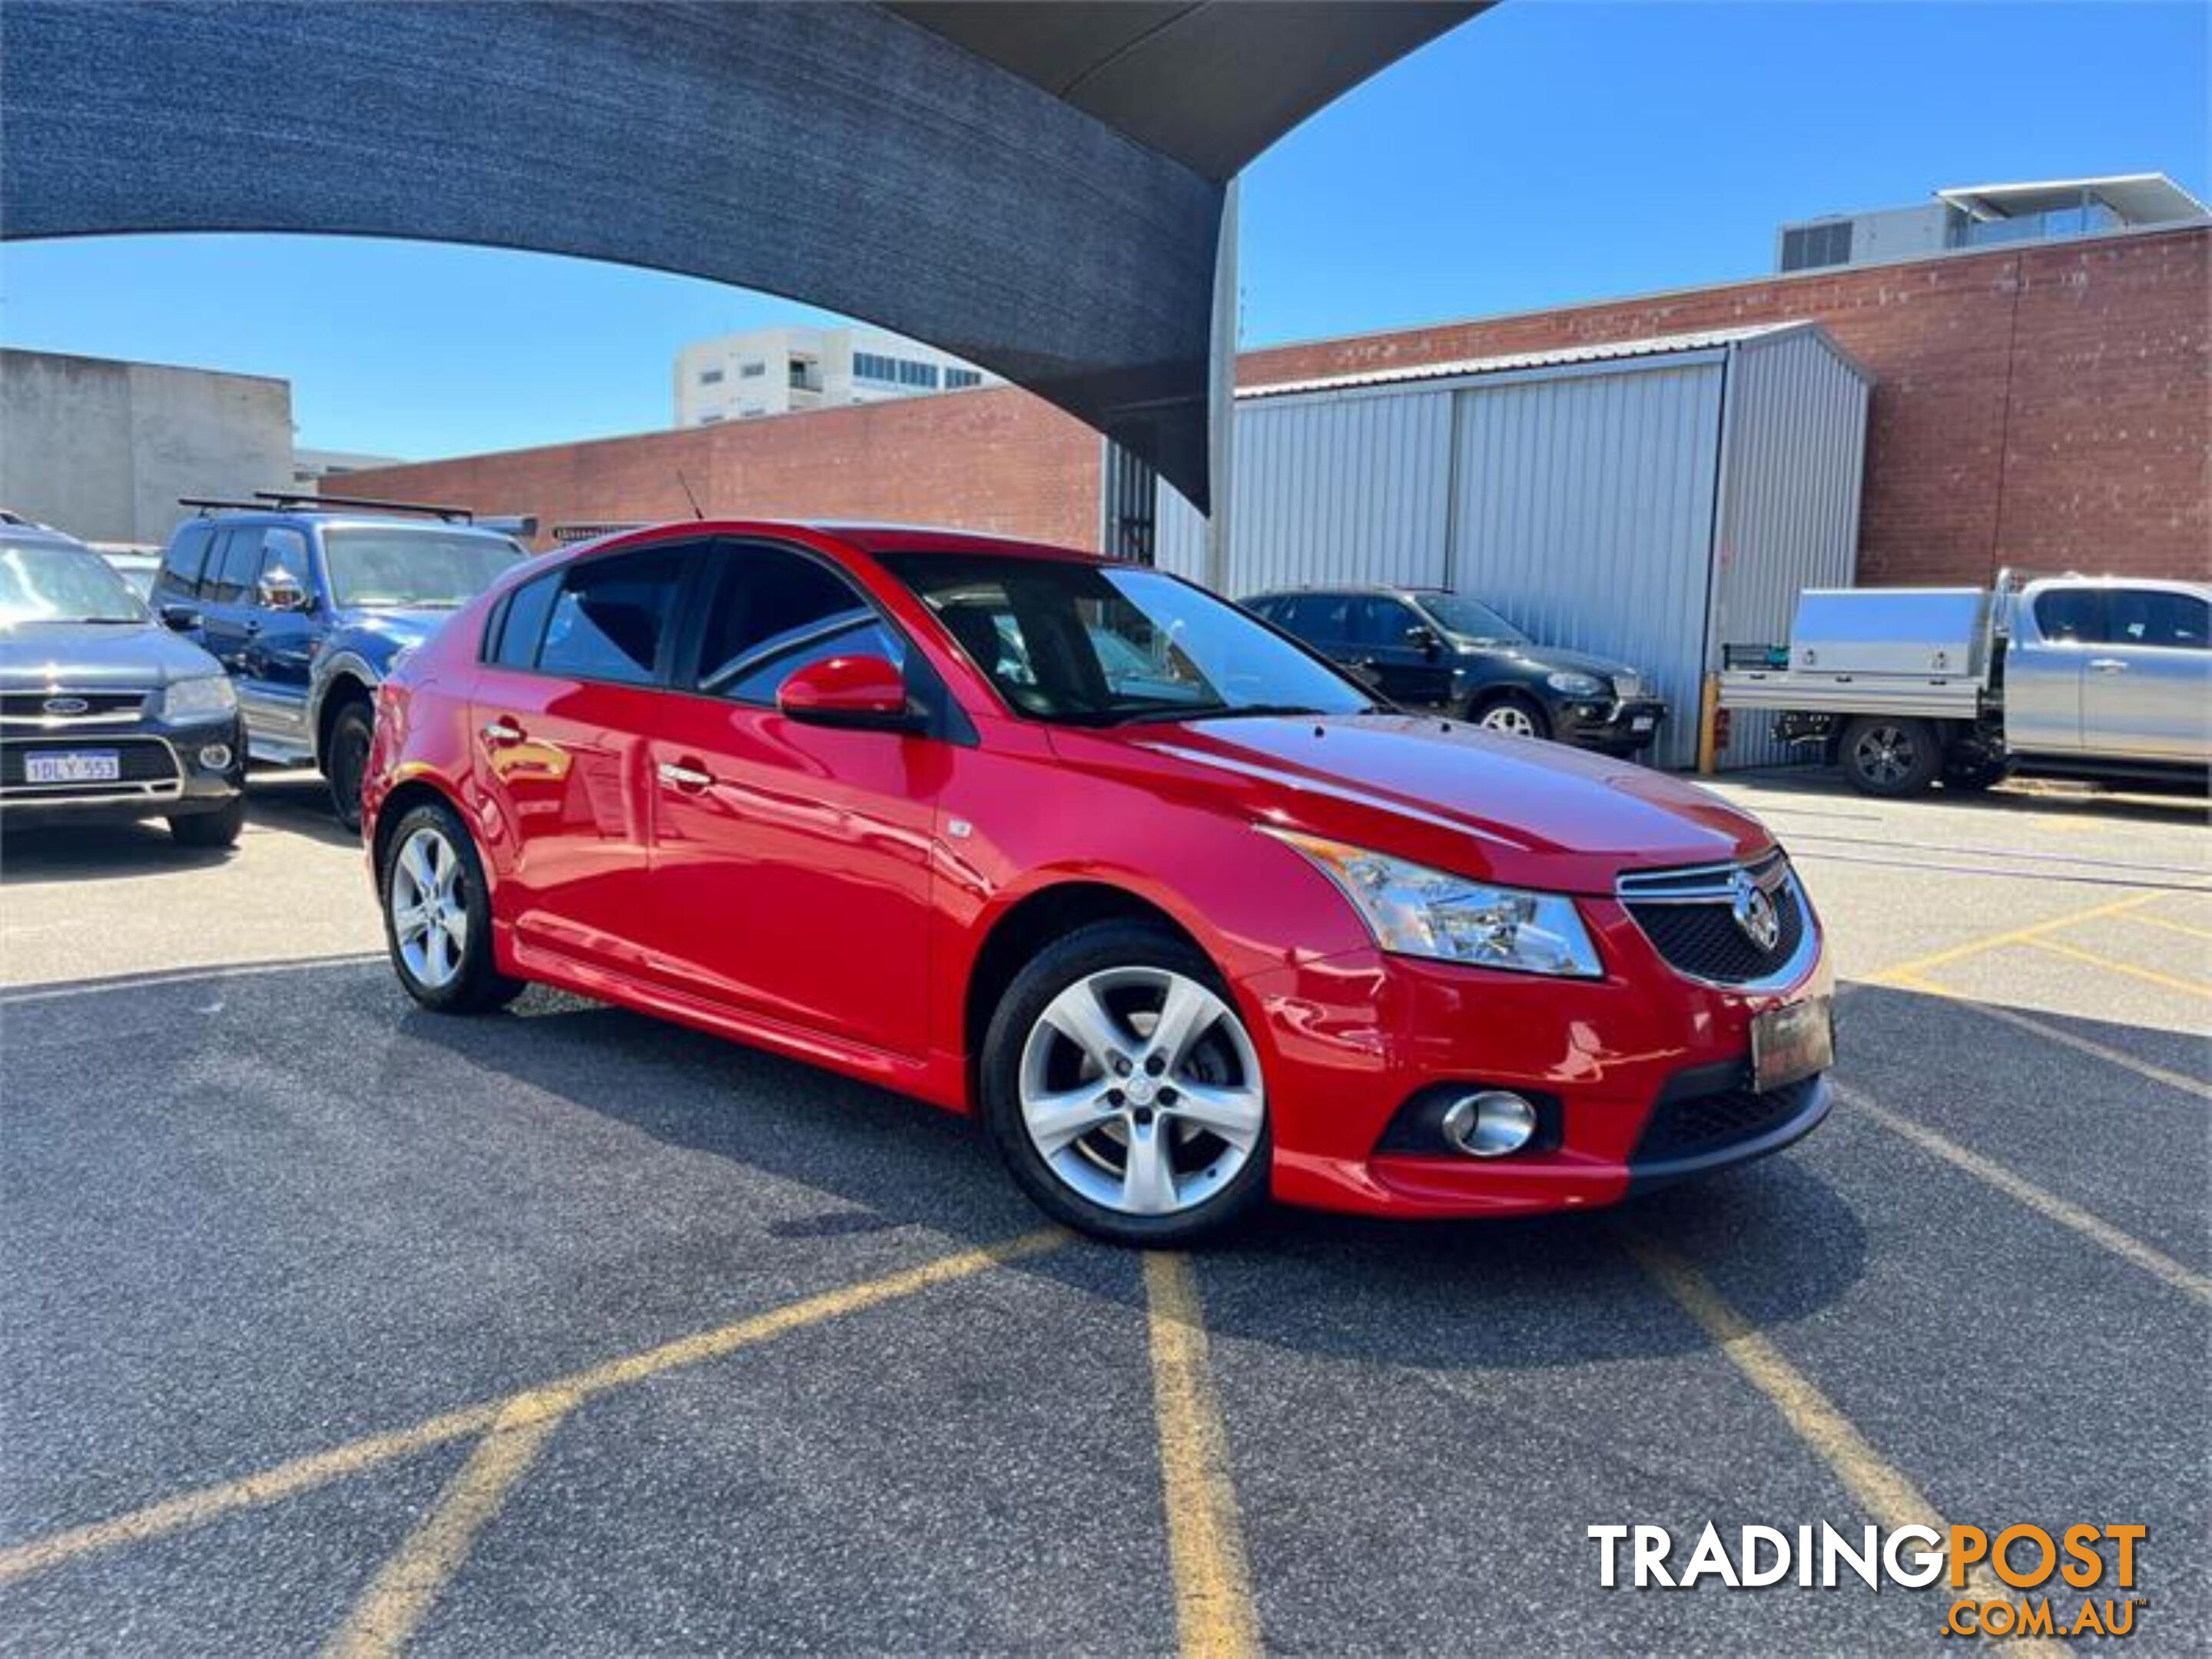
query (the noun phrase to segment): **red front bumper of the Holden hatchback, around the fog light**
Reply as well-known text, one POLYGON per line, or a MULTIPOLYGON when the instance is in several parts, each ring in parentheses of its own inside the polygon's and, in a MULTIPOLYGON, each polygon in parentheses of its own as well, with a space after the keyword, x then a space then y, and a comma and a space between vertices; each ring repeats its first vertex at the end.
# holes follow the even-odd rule
POLYGON ((1604 980, 1354 951, 1239 991, 1270 1055, 1274 1194, 1391 1217, 1601 1208, 1781 1150, 1829 1110, 1825 1077, 1750 1088, 1752 1018, 1834 975, 1825 942, 1770 991, 1670 969, 1624 907, 1584 900, 1604 980), (1422 1133, 1438 1093, 1511 1088, 1540 1108, 1520 1152, 1471 1159, 1422 1133))

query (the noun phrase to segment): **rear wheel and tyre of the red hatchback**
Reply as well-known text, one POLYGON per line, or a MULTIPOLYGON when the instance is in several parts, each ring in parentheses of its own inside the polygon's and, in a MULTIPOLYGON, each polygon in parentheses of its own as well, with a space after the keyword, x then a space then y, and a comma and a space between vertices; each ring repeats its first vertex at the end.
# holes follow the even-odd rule
POLYGON ((445 803, 414 807, 392 827, 383 896, 392 969, 434 1013, 484 1013, 522 995, 491 956, 491 894, 476 843, 445 803))

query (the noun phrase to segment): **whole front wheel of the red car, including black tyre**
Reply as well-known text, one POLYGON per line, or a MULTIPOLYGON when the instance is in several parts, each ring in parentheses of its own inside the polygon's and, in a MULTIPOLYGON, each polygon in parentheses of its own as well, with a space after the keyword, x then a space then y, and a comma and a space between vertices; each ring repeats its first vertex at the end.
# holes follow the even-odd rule
POLYGON ((982 1048, 1015 1183, 1110 1243, 1179 1245, 1267 1197, 1267 1086, 1228 987, 1157 922, 1095 922, 1024 967, 982 1048))

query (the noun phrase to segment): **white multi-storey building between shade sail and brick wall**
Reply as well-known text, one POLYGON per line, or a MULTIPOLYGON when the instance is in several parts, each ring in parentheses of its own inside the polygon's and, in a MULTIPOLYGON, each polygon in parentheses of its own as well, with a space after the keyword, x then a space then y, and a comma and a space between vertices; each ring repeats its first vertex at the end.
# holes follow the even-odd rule
POLYGON ((757 327, 677 352, 679 427, 1004 385, 933 345, 865 327, 757 327))

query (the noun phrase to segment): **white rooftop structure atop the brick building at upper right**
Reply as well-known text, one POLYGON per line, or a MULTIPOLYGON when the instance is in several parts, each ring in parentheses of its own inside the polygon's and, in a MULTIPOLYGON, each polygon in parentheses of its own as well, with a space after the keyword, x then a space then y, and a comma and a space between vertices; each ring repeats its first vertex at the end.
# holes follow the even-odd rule
POLYGON ((1975 184, 1938 190, 1911 208, 1832 212, 1774 232, 1774 270, 1882 265, 1953 248, 2095 237, 2135 226, 2203 221, 2205 204, 2163 173, 2042 184, 1975 184))

